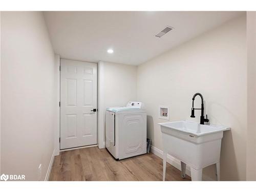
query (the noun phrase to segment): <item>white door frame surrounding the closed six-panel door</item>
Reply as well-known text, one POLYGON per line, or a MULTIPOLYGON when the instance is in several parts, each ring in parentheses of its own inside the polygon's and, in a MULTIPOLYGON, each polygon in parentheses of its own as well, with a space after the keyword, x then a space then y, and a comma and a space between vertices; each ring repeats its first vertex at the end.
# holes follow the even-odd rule
MULTIPOLYGON (((65 58, 63 57, 62 59, 69 59, 69 58, 65 58)), ((74 60, 74 59, 69 59, 69 60, 74 60)), ((82 60, 76 60, 76 61, 82 61, 82 60)), ((83 62, 88 62, 88 61, 83 61, 83 62)), ((91 63, 95 63, 96 64, 96 68, 97 68, 97 88, 96 88, 96 100, 97 100, 97 109, 98 109, 98 63, 97 62, 91 62, 91 63)), ((67 149, 67 150, 60 150, 60 142, 59 142, 59 138, 60 138, 60 106, 59 106, 59 101, 60 101, 60 56, 55 54, 55 68, 57 70, 57 120, 56 120, 56 128, 55 128, 55 132, 54 132, 54 148, 55 148, 55 156, 59 155, 60 151, 67 151, 67 150, 75 150, 76 148, 86 148, 89 146, 82 146, 82 147, 74 147, 72 149, 67 149)), ((98 113, 98 112, 97 112, 98 113)), ((98 118, 98 115, 97 115, 98 118)), ((97 143, 98 143, 98 119, 97 119, 97 143)), ((92 145, 95 146, 95 145, 92 145)))

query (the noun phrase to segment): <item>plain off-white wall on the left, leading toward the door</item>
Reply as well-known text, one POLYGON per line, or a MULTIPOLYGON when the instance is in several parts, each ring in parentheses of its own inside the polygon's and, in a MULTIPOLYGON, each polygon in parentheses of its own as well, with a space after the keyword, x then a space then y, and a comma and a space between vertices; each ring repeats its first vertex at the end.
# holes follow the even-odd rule
POLYGON ((1 24, 2 173, 44 180, 54 151, 54 52, 41 12, 2 12, 1 24))

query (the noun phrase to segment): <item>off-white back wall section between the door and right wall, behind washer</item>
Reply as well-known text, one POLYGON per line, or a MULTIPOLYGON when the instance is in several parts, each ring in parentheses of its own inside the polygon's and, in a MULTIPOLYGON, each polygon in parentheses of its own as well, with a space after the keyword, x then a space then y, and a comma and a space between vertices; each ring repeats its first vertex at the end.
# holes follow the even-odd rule
POLYGON ((98 62, 98 145, 105 142, 105 109, 125 106, 137 97, 137 66, 98 62))

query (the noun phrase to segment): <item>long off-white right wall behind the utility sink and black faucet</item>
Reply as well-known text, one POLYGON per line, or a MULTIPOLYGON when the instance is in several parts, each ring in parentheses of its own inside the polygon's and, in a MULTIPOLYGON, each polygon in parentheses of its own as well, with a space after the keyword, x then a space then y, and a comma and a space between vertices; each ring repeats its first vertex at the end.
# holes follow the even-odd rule
MULTIPOLYGON (((221 151, 221 180, 246 179, 247 62, 246 16, 185 42, 138 67, 138 100, 148 112, 147 135, 163 149, 159 105, 170 106, 170 121, 190 118, 191 98, 197 92, 206 100, 213 124, 227 125, 221 151)), ((196 98, 195 106, 200 106, 196 98)), ((203 174, 215 179, 207 167, 203 174)))

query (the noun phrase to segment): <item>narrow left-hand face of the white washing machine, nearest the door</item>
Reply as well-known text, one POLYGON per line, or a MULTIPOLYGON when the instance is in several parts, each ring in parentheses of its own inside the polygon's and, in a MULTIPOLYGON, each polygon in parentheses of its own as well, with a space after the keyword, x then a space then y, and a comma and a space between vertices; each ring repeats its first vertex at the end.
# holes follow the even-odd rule
POLYGON ((106 140, 106 148, 108 151, 115 157, 116 154, 116 137, 115 134, 115 113, 106 111, 105 117, 105 140, 106 140))

